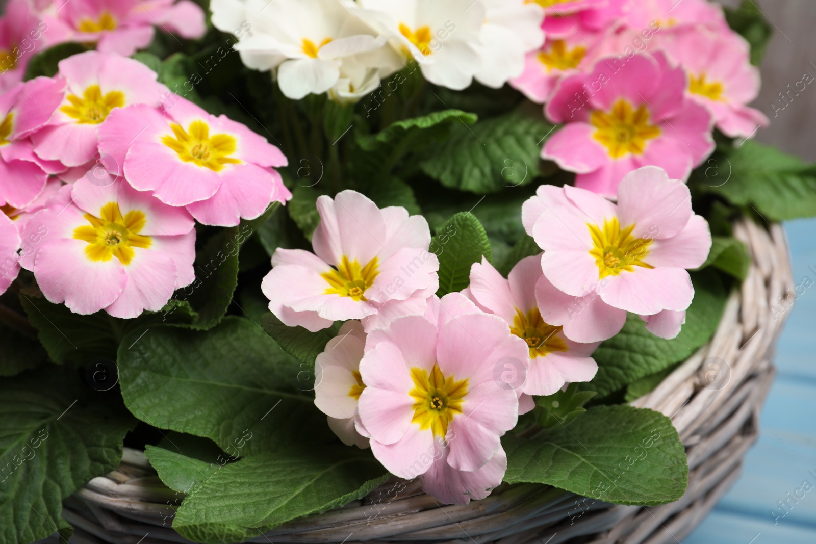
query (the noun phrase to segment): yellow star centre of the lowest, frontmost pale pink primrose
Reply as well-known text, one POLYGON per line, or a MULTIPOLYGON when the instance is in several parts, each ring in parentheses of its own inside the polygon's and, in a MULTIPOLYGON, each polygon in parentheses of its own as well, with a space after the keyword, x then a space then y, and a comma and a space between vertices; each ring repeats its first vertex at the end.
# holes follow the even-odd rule
POLYGON ((419 423, 421 430, 431 429, 433 436, 444 438, 448 432, 448 423, 456 414, 462 414, 462 404, 468 394, 468 380, 456 380, 453 376, 442 375, 439 365, 433 365, 431 374, 428 370, 412 368, 410 377, 414 388, 408 391, 414 399, 414 418, 412 423, 419 423))

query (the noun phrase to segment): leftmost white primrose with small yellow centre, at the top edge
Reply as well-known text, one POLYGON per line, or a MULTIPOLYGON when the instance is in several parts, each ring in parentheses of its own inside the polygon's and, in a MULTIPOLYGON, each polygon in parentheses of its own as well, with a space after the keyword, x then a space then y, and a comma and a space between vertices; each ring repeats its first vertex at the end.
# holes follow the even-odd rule
POLYGON ((384 46, 341 0, 213 0, 213 24, 251 30, 234 49, 251 68, 277 67, 286 97, 321 94, 338 82, 343 59, 384 46))

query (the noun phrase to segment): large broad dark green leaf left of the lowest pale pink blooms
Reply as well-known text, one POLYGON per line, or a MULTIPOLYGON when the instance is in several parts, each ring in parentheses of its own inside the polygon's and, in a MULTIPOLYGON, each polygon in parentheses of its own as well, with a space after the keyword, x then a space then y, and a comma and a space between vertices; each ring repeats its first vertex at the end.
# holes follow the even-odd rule
POLYGON ((242 317, 207 331, 163 325, 142 338, 131 334, 118 366, 125 405, 137 418, 206 436, 231 455, 240 444, 243 456, 335 440, 314 406, 308 365, 242 317))

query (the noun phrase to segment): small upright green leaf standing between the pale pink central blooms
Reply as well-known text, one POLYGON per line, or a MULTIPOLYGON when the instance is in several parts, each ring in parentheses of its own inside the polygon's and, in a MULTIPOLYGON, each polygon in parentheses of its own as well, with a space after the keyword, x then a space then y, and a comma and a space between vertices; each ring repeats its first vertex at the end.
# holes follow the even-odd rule
POLYGON ((470 285, 470 268, 482 256, 490 260, 490 241, 485 228, 468 211, 454 215, 431 239, 431 251, 439 258, 437 294, 461 291, 470 285))

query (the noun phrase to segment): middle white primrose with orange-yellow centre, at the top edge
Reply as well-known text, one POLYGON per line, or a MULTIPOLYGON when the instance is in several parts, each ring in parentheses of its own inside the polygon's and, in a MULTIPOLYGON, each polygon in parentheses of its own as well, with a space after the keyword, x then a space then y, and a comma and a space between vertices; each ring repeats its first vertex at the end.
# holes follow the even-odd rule
POLYGON ((397 51, 419 63, 429 82, 455 91, 481 68, 481 0, 358 0, 361 17, 386 34, 397 51))

